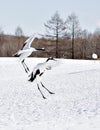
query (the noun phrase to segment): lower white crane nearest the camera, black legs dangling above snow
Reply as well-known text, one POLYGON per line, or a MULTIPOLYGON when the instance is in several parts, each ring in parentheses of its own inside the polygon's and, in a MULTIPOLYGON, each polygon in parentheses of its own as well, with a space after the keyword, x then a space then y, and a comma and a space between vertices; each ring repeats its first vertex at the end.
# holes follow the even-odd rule
POLYGON ((29 75, 29 80, 28 80, 28 81, 33 82, 35 79, 37 80, 38 90, 40 91, 40 93, 41 93, 41 95, 42 95, 42 97, 43 97, 44 99, 46 99, 46 97, 43 95, 43 93, 42 93, 42 91, 41 91, 41 89, 40 89, 40 87, 39 87, 39 83, 40 83, 41 86, 42 86, 44 89, 46 89, 50 94, 54 94, 54 93, 51 92, 50 90, 48 90, 48 89, 43 85, 43 83, 42 83, 41 80, 40 80, 40 77, 44 74, 44 72, 45 72, 46 70, 50 70, 50 69, 54 66, 54 64, 56 64, 56 62, 57 62, 57 60, 55 60, 53 57, 49 57, 49 58, 46 60, 46 62, 37 64, 37 65, 34 67, 32 73, 29 75))

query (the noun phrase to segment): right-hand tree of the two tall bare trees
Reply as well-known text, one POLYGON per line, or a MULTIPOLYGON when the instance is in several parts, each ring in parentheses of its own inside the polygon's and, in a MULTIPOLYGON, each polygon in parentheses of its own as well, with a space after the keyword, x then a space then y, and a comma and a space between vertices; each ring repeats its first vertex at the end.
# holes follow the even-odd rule
POLYGON ((75 38, 80 34, 78 17, 72 13, 66 20, 67 31, 72 40, 72 59, 74 59, 75 38))

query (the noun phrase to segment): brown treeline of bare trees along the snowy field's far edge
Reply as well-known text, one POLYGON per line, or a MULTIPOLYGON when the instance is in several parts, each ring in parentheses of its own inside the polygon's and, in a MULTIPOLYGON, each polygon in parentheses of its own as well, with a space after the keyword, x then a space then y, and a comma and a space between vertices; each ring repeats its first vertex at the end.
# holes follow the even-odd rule
MULTIPOLYGON (((91 59, 93 53, 100 57, 100 29, 93 33, 82 29, 78 17, 72 13, 64 21, 58 12, 44 24, 46 34, 36 37, 33 47, 44 47, 44 52, 34 52, 34 57, 59 57, 72 59, 91 59)), ((14 35, 5 35, 0 29, 0 56, 11 57, 19 50, 28 37, 24 36, 21 27, 14 35)))

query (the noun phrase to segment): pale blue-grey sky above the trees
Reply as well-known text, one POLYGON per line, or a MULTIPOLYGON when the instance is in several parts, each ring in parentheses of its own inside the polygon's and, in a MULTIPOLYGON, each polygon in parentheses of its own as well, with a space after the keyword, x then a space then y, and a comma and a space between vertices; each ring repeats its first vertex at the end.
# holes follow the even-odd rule
POLYGON ((82 29, 100 27, 100 0, 0 0, 0 27, 7 34, 14 34, 17 26, 28 36, 45 33, 44 23, 56 11, 63 20, 74 12, 82 29))

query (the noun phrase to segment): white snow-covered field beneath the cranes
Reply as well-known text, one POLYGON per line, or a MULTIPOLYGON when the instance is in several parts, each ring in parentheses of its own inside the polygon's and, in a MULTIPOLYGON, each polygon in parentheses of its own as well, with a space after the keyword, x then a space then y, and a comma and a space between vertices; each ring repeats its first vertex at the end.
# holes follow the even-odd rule
MULTIPOLYGON (((28 58, 32 68, 44 58, 28 58)), ((100 130, 100 61, 63 60, 42 76, 43 99, 17 58, 0 58, 0 130, 100 130)))

